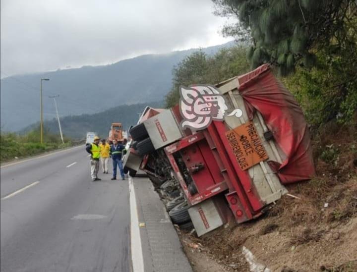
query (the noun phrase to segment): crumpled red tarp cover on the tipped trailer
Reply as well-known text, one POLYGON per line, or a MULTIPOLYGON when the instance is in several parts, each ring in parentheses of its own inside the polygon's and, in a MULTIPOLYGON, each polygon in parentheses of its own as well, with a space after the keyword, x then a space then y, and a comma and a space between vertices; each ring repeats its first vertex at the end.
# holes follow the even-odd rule
POLYGON ((287 156, 282 164, 268 162, 281 182, 310 179, 315 174, 310 135, 293 95, 274 77, 268 64, 239 76, 238 81, 249 119, 257 109, 287 156))

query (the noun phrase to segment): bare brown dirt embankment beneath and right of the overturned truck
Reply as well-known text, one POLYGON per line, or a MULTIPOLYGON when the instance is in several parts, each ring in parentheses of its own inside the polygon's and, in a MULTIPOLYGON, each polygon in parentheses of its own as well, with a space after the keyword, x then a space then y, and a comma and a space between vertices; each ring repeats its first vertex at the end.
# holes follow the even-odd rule
POLYGON ((316 135, 317 176, 287 186, 298 199, 284 196, 264 216, 200 238, 182 235, 195 271, 249 271, 243 246, 270 271, 357 271, 357 128, 330 124, 316 135))

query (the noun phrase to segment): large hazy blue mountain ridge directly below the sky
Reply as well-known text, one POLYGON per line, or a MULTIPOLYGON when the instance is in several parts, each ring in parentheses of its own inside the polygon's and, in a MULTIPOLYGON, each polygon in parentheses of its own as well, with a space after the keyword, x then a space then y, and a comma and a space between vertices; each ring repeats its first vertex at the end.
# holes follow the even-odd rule
MULTIPOLYGON (((214 54, 234 42, 201 49, 214 54)), ((172 69, 198 49, 170 54, 147 54, 102 66, 83 66, 1 79, 0 121, 2 131, 18 131, 40 118, 40 79, 43 81, 44 118, 55 115, 56 98, 60 116, 93 114, 120 105, 163 101, 172 84, 172 69)), ((118 120, 119 121, 119 120, 118 120)))

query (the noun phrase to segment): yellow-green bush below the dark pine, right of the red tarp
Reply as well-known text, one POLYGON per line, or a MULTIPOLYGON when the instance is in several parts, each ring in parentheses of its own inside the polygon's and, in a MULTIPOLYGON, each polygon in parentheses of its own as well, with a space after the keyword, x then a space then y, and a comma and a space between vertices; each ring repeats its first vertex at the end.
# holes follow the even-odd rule
POLYGON ((316 67, 297 67, 293 75, 282 81, 294 94, 312 126, 319 127, 331 120, 353 122, 357 109, 356 64, 353 67, 347 57, 329 54, 329 51, 316 55, 316 67))

